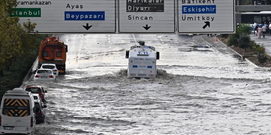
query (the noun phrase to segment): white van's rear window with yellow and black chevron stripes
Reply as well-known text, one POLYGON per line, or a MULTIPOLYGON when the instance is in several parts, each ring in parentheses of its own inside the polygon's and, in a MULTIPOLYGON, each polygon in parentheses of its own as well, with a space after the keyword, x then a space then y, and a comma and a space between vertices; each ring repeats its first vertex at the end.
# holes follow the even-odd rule
POLYGON ((4 100, 2 114, 10 117, 26 117, 30 115, 28 99, 7 98, 4 100))

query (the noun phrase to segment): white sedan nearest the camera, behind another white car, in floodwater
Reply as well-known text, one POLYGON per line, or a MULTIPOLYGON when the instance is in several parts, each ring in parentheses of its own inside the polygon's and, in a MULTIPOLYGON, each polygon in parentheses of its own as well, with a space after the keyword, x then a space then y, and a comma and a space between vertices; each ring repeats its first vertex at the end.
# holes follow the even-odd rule
POLYGON ((52 69, 38 69, 34 75, 34 82, 55 82, 55 74, 52 69))

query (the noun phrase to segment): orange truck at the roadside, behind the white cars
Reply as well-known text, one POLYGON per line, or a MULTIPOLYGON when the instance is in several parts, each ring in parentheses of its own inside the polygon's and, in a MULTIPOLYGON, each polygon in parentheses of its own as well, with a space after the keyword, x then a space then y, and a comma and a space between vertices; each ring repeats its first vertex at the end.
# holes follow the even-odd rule
POLYGON ((38 68, 43 63, 55 64, 59 73, 65 74, 66 53, 68 46, 56 37, 47 37, 40 43, 38 52, 38 68))

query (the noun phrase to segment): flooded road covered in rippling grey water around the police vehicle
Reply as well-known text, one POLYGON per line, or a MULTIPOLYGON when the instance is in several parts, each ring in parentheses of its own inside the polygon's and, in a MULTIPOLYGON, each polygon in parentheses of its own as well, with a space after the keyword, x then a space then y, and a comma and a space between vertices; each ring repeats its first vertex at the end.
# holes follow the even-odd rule
POLYGON ((270 134, 270 69, 217 52, 201 35, 56 35, 66 71, 47 93, 35 135, 270 134), (160 52, 157 78, 127 77, 125 51, 160 52))

